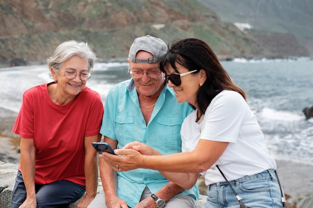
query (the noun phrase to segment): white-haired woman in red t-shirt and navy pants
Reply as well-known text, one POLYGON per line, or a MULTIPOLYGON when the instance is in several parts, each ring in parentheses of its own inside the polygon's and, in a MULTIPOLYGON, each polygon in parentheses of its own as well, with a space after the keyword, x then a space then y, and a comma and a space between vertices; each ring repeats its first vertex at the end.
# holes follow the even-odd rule
POLYGON ((103 104, 86 87, 95 54, 87 43, 61 43, 47 59, 54 81, 26 90, 13 132, 20 138, 20 166, 11 208, 61 208, 96 195, 97 154, 103 104))

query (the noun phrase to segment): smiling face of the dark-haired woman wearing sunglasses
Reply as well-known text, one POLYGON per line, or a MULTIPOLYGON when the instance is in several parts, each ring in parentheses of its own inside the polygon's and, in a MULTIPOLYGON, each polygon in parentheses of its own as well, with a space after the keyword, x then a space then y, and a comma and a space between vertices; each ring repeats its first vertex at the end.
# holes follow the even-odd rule
MULTIPOLYGON (((175 67, 179 74, 189 72, 189 70, 182 65, 175 63, 175 67)), ((172 68, 170 64, 166 69, 166 74, 177 74, 175 70, 172 68)), ((197 108, 197 94, 200 89, 200 83, 204 83, 205 81, 205 72, 204 70, 200 70, 197 73, 190 73, 180 77, 181 84, 179 86, 174 85, 170 80, 168 81, 168 86, 172 87, 176 99, 179 103, 187 102, 197 108)))

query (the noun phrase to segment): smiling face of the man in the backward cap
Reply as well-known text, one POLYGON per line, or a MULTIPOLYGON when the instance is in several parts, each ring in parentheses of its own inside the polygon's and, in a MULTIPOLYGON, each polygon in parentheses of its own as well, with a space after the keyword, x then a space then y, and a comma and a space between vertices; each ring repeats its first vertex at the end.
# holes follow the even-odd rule
MULTIPOLYGON (((136 58, 147 59, 153 58, 153 55, 146 51, 138 51, 136 58)), ((129 61, 129 60, 128 60, 129 61)), ((143 75, 141 78, 133 78, 136 85, 136 90, 138 94, 143 96, 151 96, 159 92, 163 88, 164 84, 164 73, 159 73, 157 77, 149 77, 146 71, 159 70, 157 63, 139 63, 129 61, 130 70, 132 71, 142 71, 143 75)))

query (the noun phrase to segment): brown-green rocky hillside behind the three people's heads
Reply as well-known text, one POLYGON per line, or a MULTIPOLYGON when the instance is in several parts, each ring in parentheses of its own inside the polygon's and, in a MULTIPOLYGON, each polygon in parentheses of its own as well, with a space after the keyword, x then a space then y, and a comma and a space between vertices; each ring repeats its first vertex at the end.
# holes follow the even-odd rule
POLYGON ((0 0, 0 20, 2 65, 45 62, 68 39, 88 42, 100 61, 125 61, 133 39, 146 34, 165 42, 196 37, 221 59, 273 56, 195 0, 0 0))

